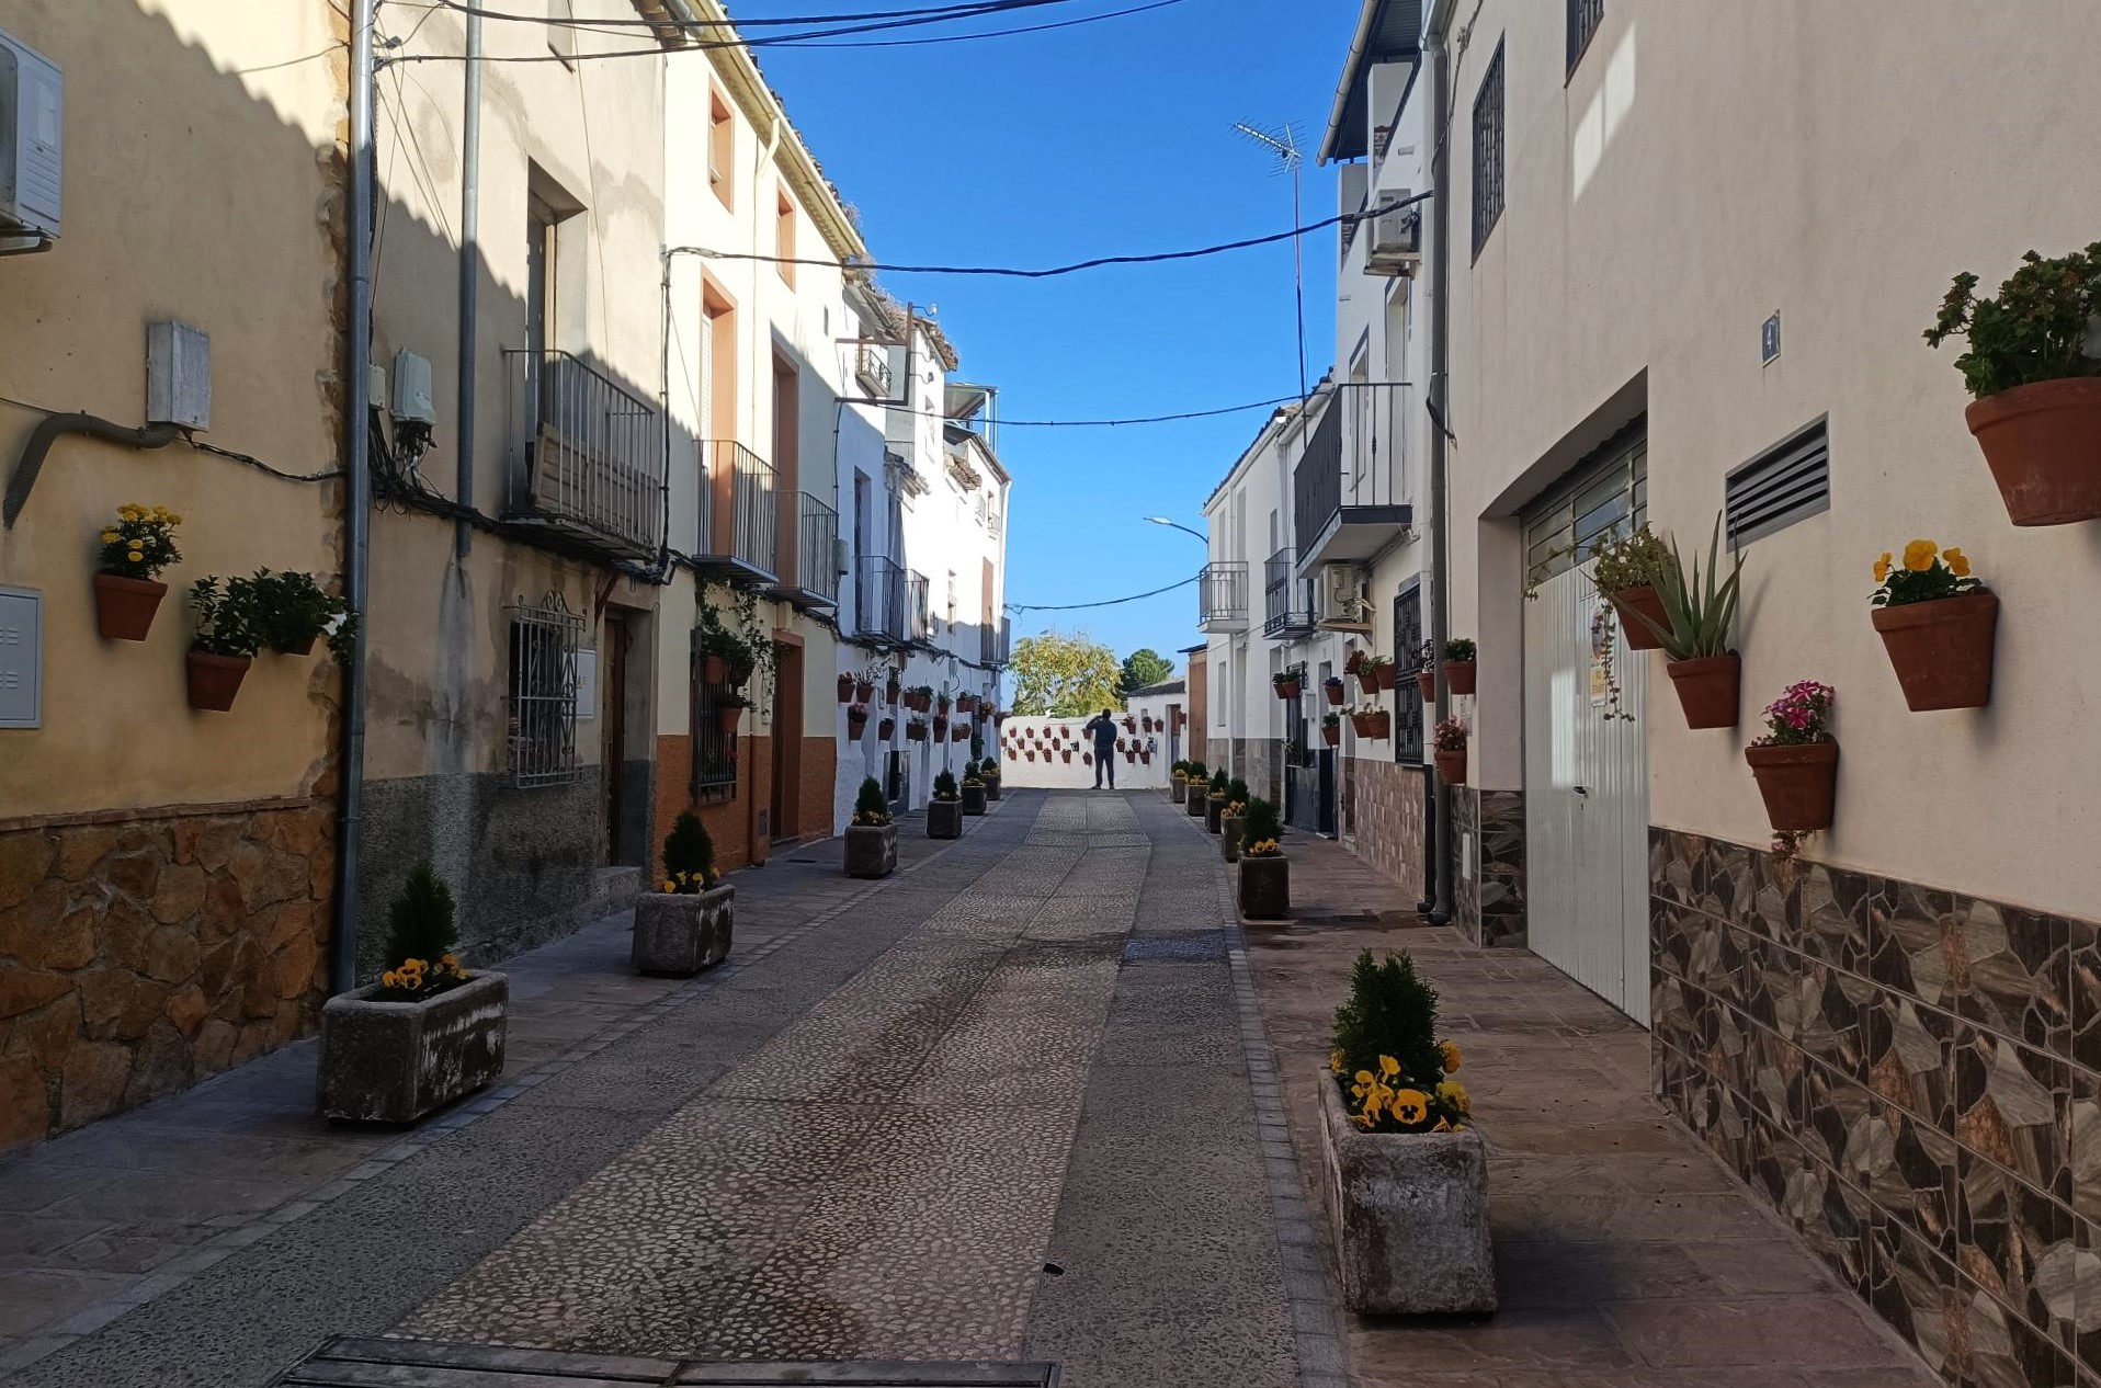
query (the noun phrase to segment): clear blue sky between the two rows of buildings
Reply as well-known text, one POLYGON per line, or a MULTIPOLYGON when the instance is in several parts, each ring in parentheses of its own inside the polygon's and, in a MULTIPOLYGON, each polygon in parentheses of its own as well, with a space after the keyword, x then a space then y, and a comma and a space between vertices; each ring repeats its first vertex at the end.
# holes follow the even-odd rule
MULTIPOLYGON (((977 23, 1126 6, 1078 0, 977 23)), ((811 6, 754 0, 737 13, 811 6)), ((1355 19, 1355 0, 1183 0, 1053 34, 769 48, 761 63, 859 208, 878 260, 1038 267, 1288 229, 1290 183, 1229 126, 1298 122, 1317 149, 1355 19)), ((1330 216, 1334 170, 1309 155, 1305 178, 1307 220, 1330 216)), ((1334 342, 1334 233, 1305 237, 1305 258, 1307 374, 1317 380, 1334 342)), ((1172 414, 1298 388, 1288 241, 1048 281, 887 275, 885 283, 939 307, 962 376, 998 384, 1006 418, 1172 414)), ((1204 496, 1263 418, 1004 428, 1000 458, 1015 475, 1008 601, 1086 603, 1189 577, 1202 544, 1143 517, 1202 529, 1204 496)), ((1082 613, 1015 613, 1015 636, 1053 624, 1084 628, 1120 657, 1200 640, 1193 588, 1082 613)))

